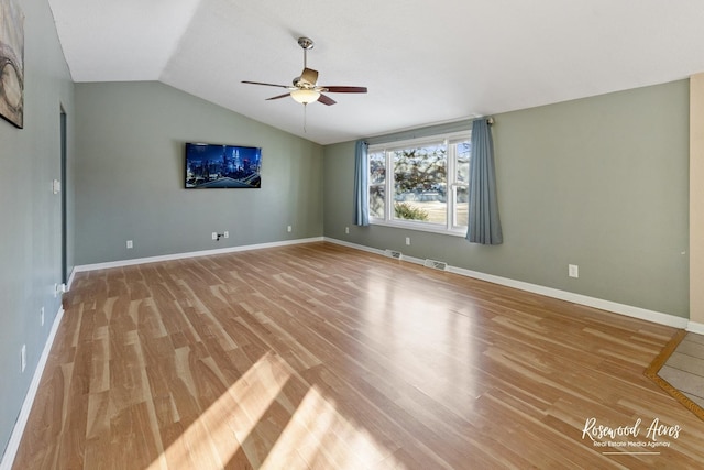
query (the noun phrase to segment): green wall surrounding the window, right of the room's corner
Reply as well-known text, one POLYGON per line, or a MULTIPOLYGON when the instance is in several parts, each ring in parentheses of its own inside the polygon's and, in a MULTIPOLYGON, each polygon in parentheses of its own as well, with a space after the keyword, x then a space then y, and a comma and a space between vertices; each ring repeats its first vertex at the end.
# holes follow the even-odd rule
POLYGON ((326 237, 688 318, 689 81, 494 118, 504 244, 353 226, 352 142, 326 147, 326 237))

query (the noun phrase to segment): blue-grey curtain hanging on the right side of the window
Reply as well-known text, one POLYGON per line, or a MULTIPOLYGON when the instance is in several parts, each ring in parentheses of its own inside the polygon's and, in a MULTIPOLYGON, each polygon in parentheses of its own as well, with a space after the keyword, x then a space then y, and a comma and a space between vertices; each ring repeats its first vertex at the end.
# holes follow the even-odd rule
POLYGON ((494 143, 487 119, 472 122, 470 162, 470 219, 466 239, 472 243, 501 244, 504 241, 498 219, 494 143))

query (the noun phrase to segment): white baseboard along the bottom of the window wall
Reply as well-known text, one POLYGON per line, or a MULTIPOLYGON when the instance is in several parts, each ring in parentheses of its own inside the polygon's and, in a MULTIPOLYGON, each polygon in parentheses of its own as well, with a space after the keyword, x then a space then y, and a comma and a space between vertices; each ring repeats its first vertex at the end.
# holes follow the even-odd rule
MULTIPOLYGON (((384 255, 384 250, 376 250, 373 248, 354 244, 354 243, 350 243, 346 241, 337 240, 332 238, 326 238, 324 240, 331 243, 341 244, 343 247, 349 247, 352 249, 358 249, 358 250, 384 255)), ((410 263, 416 263, 420 265, 422 265, 425 262, 425 260, 421 260, 419 258, 407 256, 405 254, 402 255, 400 259, 403 261, 408 261, 410 263)), ((538 284, 530 284, 527 282, 496 276, 493 274, 481 273, 479 271, 471 271, 471 270, 465 270, 463 267, 455 267, 449 264, 448 264, 448 272, 460 274, 468 277, 473 277, 480 281, 491 282, 493 284, 517 288, 519 291, 526 291, 534 294, 544 295, 546 297, 558 298, 560 300, 571 302, 573 304, 584 305, 587 307, 598 308, 601 310, 612 311, 615 314, 620 314, 628 317, 638 318, 641 320, 652 321, 659 325, 666 325, 666 326, 680 328, 680 329, 688 328, 688 330, 690 330, 689 326, 692 326, 692 321, 689 321, 686 318, 676 317, 674 315, 663 314, 660 311, 649 310, 640 307, 634 307, 631 305, 619 304, 616 302, 604 300, 601 298, 590 297, 586 295, 575 294, 572 292, 560 291, 557 288, 546 287, 538 284)), ((693 327, 696 328, 696 325, 697 324, 694 324, 693 327)), ((702 328, 702 331, 704 331, 704 325, 698 324, 698 326, 702 328)))

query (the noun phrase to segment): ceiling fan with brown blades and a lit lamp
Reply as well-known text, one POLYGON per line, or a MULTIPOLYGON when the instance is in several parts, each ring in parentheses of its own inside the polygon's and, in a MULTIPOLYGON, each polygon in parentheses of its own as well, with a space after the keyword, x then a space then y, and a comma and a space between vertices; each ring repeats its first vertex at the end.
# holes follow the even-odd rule
POLYGON ((290 96, 297 102, 306 106, 310 102, 321 102, 323 105, 334 105, 337 101, 330 98, 326 92, 333 94, 365 94, 366 87, 349 87, 349 86, 321 86, 318 85, 318 70, 308 68, 308 51, 312 48, 314 42, 309 37, 298 37, 298 45, 304 50, 304 72, 299 77, 294 78, 294 85, 275 85, 264 84, 261 81, 242 80, 243 84, 264 85, 267 87, 286 88, 288 92, 278 95, 267 100, 280 99, 290 96))

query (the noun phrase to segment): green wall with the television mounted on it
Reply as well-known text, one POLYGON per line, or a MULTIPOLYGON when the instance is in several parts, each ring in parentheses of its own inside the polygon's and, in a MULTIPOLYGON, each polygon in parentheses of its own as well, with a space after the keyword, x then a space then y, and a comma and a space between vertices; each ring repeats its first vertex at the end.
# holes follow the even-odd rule
POLYGON ((76 107, 77 265, 322 236, 322 146, 158 83, 76 107), (261 146, 262 188, 185 189, 185 142, 261 146))

